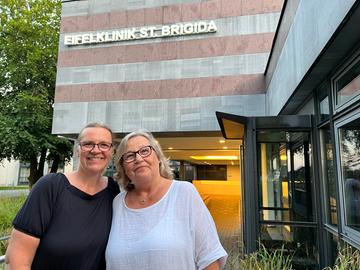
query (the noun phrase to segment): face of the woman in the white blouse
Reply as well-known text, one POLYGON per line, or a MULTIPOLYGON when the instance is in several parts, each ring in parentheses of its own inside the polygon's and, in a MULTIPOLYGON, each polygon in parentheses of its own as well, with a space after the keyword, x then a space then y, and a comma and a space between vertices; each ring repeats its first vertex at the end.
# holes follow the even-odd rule
MULTIPOLYGON (((137 152, 140 148, 148 145, 150 145, 150 142, 145 137, 132 137, 128 141, 125 153, 137 152)), ((136 154, 134 161, 123 161, 123 168, 125 174, 134 184, 141 180, 151 180, 160 176, 159 159, 153 149, 151 149, 151 154, 147 157, 141 157, 139 154, 136 154)))

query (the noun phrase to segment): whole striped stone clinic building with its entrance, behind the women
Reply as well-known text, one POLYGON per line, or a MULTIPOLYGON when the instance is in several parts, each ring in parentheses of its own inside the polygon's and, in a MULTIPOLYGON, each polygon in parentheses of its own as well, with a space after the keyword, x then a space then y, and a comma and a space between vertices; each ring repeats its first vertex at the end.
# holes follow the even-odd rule
POLYGON ((360 248, 359 16, 355 0, 64 0, 53 133, 153 132, 178 178, 226 197, 228 248, 285 244, 320 269, 360 248))

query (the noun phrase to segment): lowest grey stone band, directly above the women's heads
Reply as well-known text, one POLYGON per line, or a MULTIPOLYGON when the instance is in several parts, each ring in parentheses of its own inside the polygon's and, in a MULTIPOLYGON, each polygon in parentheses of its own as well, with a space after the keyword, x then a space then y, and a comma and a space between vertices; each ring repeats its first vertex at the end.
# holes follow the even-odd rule
POLYGON ((56 103, 53 133, 78 133, 87 122, 107 123, 114 132, 218 130, 215 111, 264 115, 265 95, 56 103))

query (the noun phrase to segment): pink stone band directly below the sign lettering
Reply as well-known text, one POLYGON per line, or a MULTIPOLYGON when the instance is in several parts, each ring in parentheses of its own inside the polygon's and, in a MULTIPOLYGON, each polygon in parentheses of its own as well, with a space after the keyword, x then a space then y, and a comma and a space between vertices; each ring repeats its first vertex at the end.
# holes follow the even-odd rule
POLYGON ((164 61, 269 52, 273 33, 61 51, 58 67, 164 61))

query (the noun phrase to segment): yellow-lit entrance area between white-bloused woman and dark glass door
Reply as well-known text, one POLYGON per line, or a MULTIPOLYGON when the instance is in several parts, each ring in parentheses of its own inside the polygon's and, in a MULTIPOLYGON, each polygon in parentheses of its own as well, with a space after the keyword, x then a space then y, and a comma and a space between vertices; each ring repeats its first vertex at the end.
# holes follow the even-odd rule
POLYGON ((226 251, 238 253, 239 244, 242 243, 242 142, 225 140, 220 132, 181 135, 169 137, 168 134, 155 134, 155 137, 170 159, 175 178, 192 182, 199 191, 214 218, 226 251))

